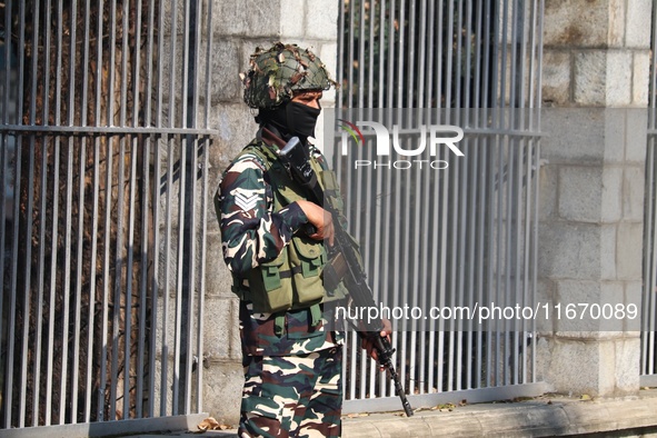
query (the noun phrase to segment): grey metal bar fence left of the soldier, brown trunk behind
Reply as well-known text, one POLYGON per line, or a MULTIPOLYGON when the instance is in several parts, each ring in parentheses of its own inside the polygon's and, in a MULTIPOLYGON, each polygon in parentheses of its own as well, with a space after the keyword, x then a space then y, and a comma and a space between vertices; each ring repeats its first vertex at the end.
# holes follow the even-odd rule
POLYGON ((201 412, 211 7, 0 3, 0 428, 201 412))

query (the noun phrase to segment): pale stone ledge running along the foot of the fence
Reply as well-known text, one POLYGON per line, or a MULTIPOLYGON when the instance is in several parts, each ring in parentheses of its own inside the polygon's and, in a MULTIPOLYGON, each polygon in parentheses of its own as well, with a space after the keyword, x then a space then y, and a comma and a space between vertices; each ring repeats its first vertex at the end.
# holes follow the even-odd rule
MULTIPOLYGON (((516 402, 422 409, 411 418, 400 412, 346 416, 346 438, 372 437, 554 437, 641 436, 657 437, 657 389, 641 390, 639 397, 580 399, 541 396, 516 402), (625 430, 624 432, 616 432, 625 430), (590 435, 588 435, 590 436, 590 435)), ((139 435, 140 438, 236 437, 236 430, 139 435)))

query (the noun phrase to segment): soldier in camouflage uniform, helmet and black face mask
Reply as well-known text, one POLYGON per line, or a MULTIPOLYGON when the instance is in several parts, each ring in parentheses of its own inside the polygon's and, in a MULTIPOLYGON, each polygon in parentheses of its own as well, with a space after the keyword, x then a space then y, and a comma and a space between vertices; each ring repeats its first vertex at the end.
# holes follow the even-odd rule
POLYGON ((322 91, 336 82, 310 50, 280 42, 257 49, 241 78, 245 102, 258 110, 260 128, 225 171, 215 198, 223 258, 240 298, 239 435, 337 437, 342 334, 331 322, 346 290, 327 292, 321 279, 334 218, 306 199, 276 153, 298 137, 316 172, 328 172, 308 139, 322 91))

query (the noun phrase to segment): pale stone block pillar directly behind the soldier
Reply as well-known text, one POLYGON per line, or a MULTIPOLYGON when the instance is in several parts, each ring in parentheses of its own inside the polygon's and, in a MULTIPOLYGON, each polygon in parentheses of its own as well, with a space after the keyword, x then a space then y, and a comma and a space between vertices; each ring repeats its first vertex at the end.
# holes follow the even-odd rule
MULTIPOLYGON (((223 169, 253 138, 257 129, 255 113, 242 101, 238 77, 247 70, 249 56, 257 46, 270 47, 276 41, 311 47, 335 78, 339 2, 212 1, 216 46, 211 126, 219 130, 219 136, 213 139, 210 151, 210 187, 216 188, 223 169)), ((332 102, 335 93, 326 92, 322 106, 331 107, 332 102)), ((230 273, 221 256, 221 236, 213 209, 209 215, 203 410, 218 420, 236 424, 243 382, 238 307, 230 291, 230 273)))

